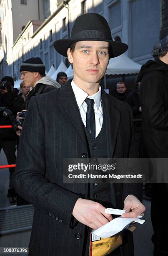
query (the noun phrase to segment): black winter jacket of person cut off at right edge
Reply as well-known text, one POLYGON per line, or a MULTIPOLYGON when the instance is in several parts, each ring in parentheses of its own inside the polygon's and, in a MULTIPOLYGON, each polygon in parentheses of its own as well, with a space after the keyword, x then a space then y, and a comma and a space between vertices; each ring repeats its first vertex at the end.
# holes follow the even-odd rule
POLYGON ((147 61, 139 79, 143 143, 148 157, 168 157, 168 65, 147 61))

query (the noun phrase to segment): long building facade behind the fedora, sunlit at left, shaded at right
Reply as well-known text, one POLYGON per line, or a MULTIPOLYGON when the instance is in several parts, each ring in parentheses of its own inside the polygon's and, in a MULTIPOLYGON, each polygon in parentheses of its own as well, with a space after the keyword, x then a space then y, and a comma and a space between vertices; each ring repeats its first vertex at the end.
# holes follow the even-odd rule
MULTIPOLYGON (((140 64, 153 59, 159 42, 160 6, 163 0, 0 0, 2 46, 0 77, 20 77, 20 64, 39 56, 47 71, 68 60, 53 48, 53 41, 70 35, 82 13, 100 13, 115 40, 128 44, 126 54, 140 64)), ((167 32, 166 32, 167 33, 167 32)))

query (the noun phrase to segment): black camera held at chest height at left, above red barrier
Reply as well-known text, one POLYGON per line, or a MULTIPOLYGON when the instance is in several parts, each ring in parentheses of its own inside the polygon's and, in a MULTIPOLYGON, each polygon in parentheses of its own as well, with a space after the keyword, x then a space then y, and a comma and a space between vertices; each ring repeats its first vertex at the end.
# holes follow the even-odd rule
POLYGON ((22 126, 23 125, 23 121, 25 120, 26 117, 26 111, 22 111, 20 112, 19 116, 23 117, 22 120, 18 120, 14 117, 13 113, 9 110, 9 109, 5 109, 3 111, 3 115, 6 117, 7 120, 10 120, 12 123, 12 128, 14 131, 18 131, 18 125, 22 126))

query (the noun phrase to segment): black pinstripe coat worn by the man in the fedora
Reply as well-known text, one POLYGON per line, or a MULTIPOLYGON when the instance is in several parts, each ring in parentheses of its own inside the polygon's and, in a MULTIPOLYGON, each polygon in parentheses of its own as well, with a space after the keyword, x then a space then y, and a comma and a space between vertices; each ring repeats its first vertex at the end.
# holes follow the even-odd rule
MULTIPOLYGON (((103 91, 103 90, 102 90, 103 91)), ((108 157, 128 157, 131 115, 127 104, 102 92, 108 157)), ((63 159, 88 154, 85 131, 70 81, 30 100, 14 174, 16 191, 35 206, 30 255, 81 256, 85 226, 72 228, 72 211, 87 184, 63 183, 63 159), (80 233, 77 239, 75 234, 80 233)), ((141 200, 138 184, 110 185, 114 207, 129 194, 141 200)), ((128 255, 128 254, 127 254, 128 255)), ((129 255, 131 255, 129 253, 129 255)))

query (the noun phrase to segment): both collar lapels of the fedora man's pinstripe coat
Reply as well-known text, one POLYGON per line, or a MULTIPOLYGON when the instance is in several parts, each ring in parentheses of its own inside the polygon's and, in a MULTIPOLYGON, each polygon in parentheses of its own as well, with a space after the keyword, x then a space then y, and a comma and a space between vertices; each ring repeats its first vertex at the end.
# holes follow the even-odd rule
MULTIPOLYGON (((71 87, 71 81, 72 79, 68 80, 67 84, 60 88, 60 108, 82 139, 86 150, 88 150, 87 138, 75 95, 71 87)), ((121 114, 120 110, 117 108, 115 99, 107 95, 103 88, 101 100, 103 104, 103 115, 105 115, 106 120, 108 157, 113 157, 121 114)))

